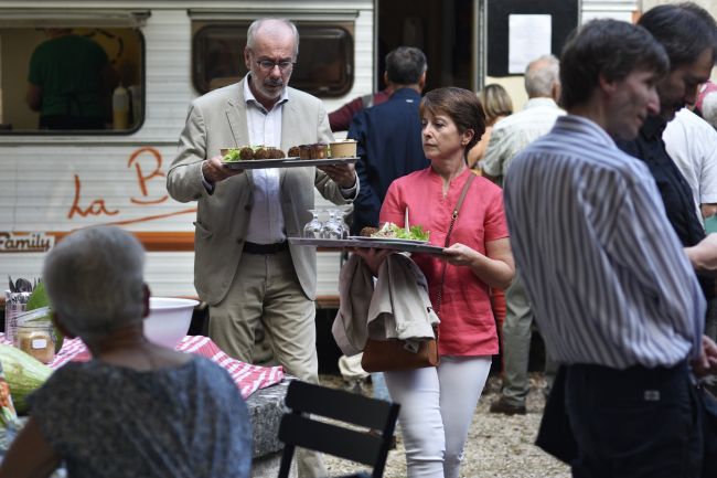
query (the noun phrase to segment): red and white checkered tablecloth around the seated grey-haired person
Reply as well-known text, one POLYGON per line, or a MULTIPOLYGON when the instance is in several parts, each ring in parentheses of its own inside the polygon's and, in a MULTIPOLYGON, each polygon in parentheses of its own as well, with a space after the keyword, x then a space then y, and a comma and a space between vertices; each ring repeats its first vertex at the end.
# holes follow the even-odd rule
MULTIPOLYGON (((3 333, 0 342, 9 344, 3 333)), ((283 369, 281 367, 259 367, 233 359, 224 353, 208 337, 186 336, 175 348, 178 351, 196 353, 217 363, 229 372, 244 399, 259 389, 281 382, 283 369)), ((58 369, 67 362, 86 362, 92 359, 89 350, 81 339, 65 339, 62 349, 50 363, 52 369, 58 369)))

